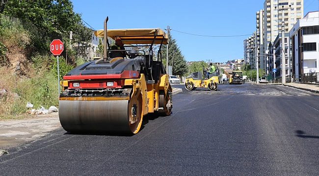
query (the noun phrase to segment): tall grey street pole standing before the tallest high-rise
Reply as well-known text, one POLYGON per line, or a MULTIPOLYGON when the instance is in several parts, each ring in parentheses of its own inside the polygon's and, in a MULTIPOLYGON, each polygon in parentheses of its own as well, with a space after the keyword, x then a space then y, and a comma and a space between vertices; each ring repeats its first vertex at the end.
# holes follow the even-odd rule
MULTIPOLYGON (((281 8, 281 83, 282 85, 286 84, 286 54, 285 54, 285 17, 284 10, 290 9, 292 5, 289 5, 289 8, 284 8, 282 5, 281 8)), ((276 9, 276 7, 275 7, 276 9)), ((279 9, 278 9, 279 10, 279 9)), ((288 42, 288 41, 287 41, 288 42)))

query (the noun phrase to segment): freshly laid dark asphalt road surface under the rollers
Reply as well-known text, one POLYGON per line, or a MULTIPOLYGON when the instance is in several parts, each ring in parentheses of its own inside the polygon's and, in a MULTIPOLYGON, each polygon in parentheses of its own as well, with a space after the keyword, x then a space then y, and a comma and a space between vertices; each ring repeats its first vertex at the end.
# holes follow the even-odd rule
POLYGON ((0 175, 318 175, 318 101, 280 85, 183 89, 133 136, 58 129, 2 155, 0 175))

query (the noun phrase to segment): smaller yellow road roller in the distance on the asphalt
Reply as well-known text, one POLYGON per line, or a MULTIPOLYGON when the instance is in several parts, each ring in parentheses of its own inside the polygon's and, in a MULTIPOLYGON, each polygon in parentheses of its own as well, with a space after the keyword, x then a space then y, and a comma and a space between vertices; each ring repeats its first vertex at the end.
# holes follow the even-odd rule
POLYGON ((215 69, 215 72, 210 73, 208 78, 205 76, 207 70, 203 68, 203 71, 196 71, 190 73, 185 79, 185 88, 187 90, 195 90, 196 88, 208 88, 210 90, 216 90, 219 82, 219 69, 215 69))

